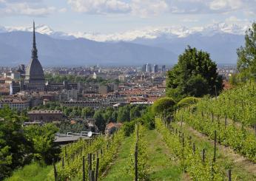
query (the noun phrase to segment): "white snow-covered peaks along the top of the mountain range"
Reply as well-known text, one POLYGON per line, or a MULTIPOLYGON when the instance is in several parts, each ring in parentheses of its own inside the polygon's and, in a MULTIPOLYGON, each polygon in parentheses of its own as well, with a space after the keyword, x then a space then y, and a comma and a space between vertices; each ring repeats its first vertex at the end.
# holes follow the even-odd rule
MULTIPOLYGON (((155 39, 155 38, 185 38, 189 35, 199 33, 203 36, 212 36, 218 33, 229 33, 233 35, 244 35, 248 29, 249 24, 227 24, 218 23, 210 24, 205 27, 183 27, 183 26, 171 26, 171 27, 146 27, 140 30, 129 30, 123 33, 64 33, 54 31, 47 25, 38 25, 36 32, 50 35, 53 38, 60 39, 75 39, 75 38, 87 38, 92 41, 135 41, 136 39, 155 39)), ((0 33, 7 33, 13 31, 31 32, 33 27, 1 27, 0 33)))

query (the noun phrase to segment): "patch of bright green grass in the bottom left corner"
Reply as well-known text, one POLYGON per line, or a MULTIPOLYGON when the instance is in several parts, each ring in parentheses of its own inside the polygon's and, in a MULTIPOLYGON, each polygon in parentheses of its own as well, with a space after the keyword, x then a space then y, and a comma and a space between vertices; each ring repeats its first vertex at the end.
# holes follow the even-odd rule
POLYGON ((53 168, 52 165, 42 166, 38 163, 31 163, 30 165, 25 165, 13 172, 13 176, 7 178, 4 181, 42 181, 47 180, 47 174, 53 168))

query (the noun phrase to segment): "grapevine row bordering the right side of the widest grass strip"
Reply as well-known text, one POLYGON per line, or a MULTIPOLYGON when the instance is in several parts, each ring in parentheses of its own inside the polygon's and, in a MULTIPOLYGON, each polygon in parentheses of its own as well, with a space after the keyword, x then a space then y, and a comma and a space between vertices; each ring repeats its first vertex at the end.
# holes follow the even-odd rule
POLYGON ((223 164, 214 159, 212 150, 199 144, 196 147, 191 136, 164 123, 160 118, 156 118, 155 126, 172 153, 181 161, 183 171, 188 172, 192 180, 226 180, 226 172, 221 168, 223 164))

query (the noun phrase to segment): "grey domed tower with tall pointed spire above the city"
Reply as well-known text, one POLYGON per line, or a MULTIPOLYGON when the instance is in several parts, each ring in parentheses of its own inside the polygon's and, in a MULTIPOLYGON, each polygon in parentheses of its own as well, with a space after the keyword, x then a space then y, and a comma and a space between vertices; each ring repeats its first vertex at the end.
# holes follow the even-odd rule
MULTIPOLYGON (((35 32, 35 22, 33 22, 33 48, 31 50, 31 60, 30 64, 27 66, 24 83, 33 83, 34 86, 42 86, 44 83, 44 71, 38 61, 37 49, 36 49, 36 32, 35 32)), ((32 86, 32 85, 30 85, 32 86)), ((38 87, 39 88, 39 87, 38 87)))

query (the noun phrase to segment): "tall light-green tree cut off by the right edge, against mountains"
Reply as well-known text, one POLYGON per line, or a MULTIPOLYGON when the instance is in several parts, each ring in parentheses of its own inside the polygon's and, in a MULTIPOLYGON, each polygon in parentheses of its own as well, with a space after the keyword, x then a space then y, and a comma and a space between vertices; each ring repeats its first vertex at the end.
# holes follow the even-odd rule
POLYGON ((246 31, 245 47, 240 47, 238 53, 238 70, 240 72, 249 72, 256 76, 256 23, 252 28, 246 31))

